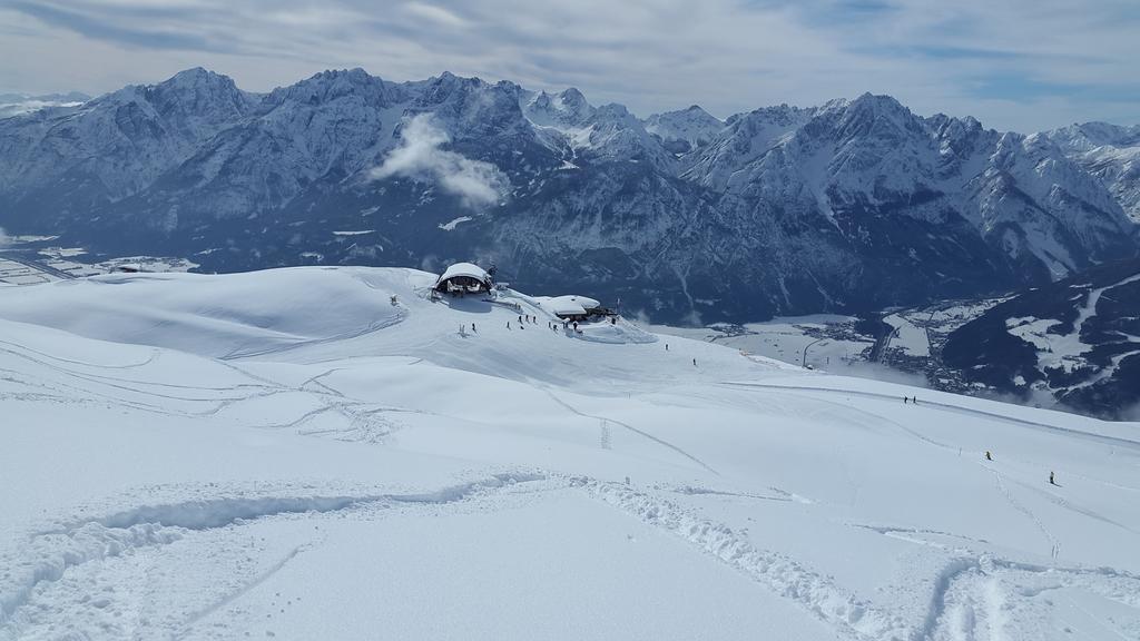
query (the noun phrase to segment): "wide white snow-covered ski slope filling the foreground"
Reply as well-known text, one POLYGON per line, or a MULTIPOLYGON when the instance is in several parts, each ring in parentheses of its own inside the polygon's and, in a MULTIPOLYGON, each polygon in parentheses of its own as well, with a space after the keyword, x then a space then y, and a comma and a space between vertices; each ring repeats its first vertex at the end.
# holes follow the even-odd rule
POLYGON ((1140 639, 1140 424, 433 282, 0 289, 0 639, 1140 639))

